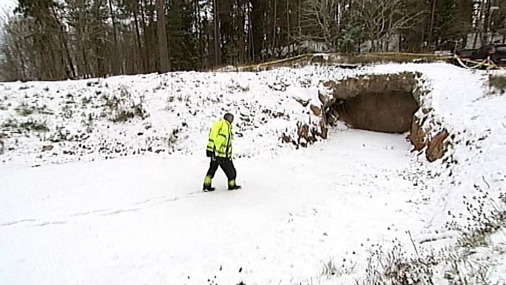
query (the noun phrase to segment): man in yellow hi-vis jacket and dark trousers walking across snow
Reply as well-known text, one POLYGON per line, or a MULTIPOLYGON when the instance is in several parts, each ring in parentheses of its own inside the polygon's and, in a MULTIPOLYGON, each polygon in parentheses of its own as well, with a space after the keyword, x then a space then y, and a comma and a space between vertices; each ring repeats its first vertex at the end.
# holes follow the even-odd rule
POLYGON ((214 191, 211 182, 218 165, 225 173, 226 178, 229 179, 229 190, 241 188, 236 184, 237 173, 232 162, 232 122, 234 122, 234 115, 226 113, 221 120, 214 122, 211 127, 206 150, 206 155, 211 157, 211 163, 204 179, 204 191, 214 191))

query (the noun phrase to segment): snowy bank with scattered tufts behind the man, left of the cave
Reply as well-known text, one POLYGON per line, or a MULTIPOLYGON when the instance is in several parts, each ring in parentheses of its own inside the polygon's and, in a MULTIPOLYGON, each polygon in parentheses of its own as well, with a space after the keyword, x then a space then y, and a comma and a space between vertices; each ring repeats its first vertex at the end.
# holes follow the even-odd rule
POLYGON ((343 76, 336 68, 305 68, 5 84, 1 114, 11 151, 3 160, 33 165, 201 153, 210 123, 225 111, 236 114, 236 156, 271 152, 283 132, 309 117, 294 97, 316 96, 320 80, 343 76))

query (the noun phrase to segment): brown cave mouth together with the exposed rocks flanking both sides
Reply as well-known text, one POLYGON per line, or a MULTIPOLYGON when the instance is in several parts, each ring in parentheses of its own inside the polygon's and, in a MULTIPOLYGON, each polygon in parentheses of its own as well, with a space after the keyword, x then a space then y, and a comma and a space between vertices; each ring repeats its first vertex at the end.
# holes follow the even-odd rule
MULTIPOLYGON (((409 131, 413 151, 425 149, 425 156, 431 162, 440 159, 447 151, 446 138, 449 134, 445 129, 437 133, 438 130, 432 127, 434 120, 426 121, 431 108, 422 108, 420 116, 415 115, 420 108, 420 98, 427 92, 417 87, 418 77, 418 73, 400 73, 325 82, 324 85, 332 92, 319 94, 320 106, 303 102, 304 106, 309 105, 316 120, 310 120, 309 125, 297 124, 297 140, 285 135, 282 139, 286 143, 306 147, 318 138, 326 139, 328 125, 341 120, 353 128, 370 131, 409 131)), ((423 79, 420 80, 423 82, 423 79)))

